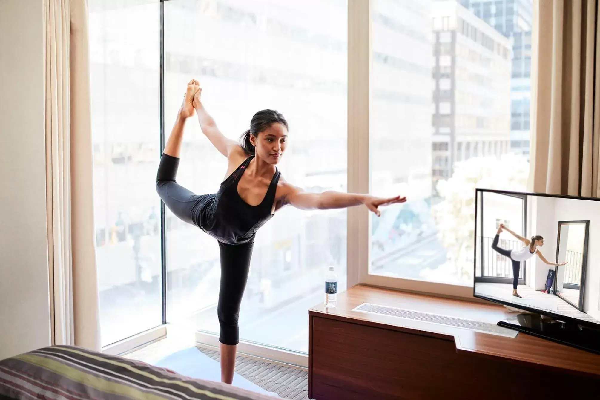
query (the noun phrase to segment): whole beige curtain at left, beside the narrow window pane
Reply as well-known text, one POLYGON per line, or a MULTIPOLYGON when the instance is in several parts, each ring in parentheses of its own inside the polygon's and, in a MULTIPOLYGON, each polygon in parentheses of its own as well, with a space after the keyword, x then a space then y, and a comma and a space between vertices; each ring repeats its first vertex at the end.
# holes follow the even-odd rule
POLYGON ((46 210, 53 344, 100 350, 88 6, 44 0, 46 210))

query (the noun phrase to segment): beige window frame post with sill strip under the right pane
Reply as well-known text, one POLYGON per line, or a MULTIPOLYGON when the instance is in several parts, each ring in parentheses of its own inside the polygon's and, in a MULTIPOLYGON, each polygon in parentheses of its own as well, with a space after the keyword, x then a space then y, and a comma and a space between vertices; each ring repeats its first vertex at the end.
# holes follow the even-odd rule
MULTIPOLYGON (((373 54, 371 12, 371 0, 348 1, 347 188, 353 193, 371 193, 369 146, 370 74, 373 54)), ((348 209, 347 218, 347 287, 364 284, 434 296, 474 299, 473 284, 465 286, 370 273, 372 216, 366 207, 352 207, 348 209)))

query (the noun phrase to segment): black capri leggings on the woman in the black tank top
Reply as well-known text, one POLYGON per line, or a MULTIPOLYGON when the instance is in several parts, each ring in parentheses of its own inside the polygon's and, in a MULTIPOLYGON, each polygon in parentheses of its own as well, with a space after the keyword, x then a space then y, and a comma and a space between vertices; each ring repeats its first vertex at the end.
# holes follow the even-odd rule
MULTIPOLYGON (((194 221, 198 221, 200 217, 197 206, 203 196, 192 193, 175 181, 178 167, 179 158, 163 155, 158 166, 156 190, 173 214, 182 221, 195 225, 194 221)), ((219 341, 236 345, 239 342, 239 306, 248 281, 254 241, 240 245, 218 243, 221 257, 221 283, 217 305, 219 341)))

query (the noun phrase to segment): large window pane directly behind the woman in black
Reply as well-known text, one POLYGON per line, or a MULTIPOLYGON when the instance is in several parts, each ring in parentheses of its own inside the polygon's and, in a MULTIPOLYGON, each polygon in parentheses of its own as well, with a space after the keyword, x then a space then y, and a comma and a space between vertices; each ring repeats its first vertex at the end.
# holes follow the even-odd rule
MULTIPOLYGON (((185 84, 196 78, 227 137, 237 140, 257 111, 276 109, 290 127, 279 165, 286 181, 309 191, 346 191, 346 7, 339 0, 165 2, 167 131, 185 84)), ((194 193, 215 193, 226 169, 226 158, 190 120, 178 182, 194 193)), ((217 242, 167 217, 167 317, 217 333, 217 242)), ((329 265, 344 290, 346 210, 278 211, 256 237, 240 339, 307 352, 308 308, 323 301, 329 265)))

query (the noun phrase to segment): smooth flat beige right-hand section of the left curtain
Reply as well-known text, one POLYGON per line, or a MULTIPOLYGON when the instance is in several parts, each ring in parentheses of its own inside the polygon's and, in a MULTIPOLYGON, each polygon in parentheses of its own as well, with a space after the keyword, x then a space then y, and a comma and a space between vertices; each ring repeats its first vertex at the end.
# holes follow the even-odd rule
POLYGON ((100 350, 87 0, 71 0, 71 251, 75 343, 100 350))

